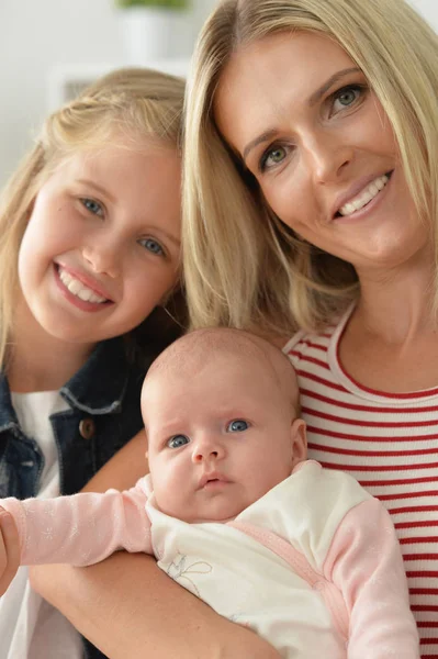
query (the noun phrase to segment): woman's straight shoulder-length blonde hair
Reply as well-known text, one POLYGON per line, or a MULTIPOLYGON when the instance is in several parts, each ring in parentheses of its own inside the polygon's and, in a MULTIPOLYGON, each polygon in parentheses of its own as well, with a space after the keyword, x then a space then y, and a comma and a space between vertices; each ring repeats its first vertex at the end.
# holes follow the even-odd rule
MULTIPOLYGON (((200 35, 187 101, 184 278, 194 327, 314 330, 358 295, 352 266, 299 241, 274 216, 214 122, 214 94, 233 53, 294 31, 329 36, 361 68, 437 243, 438 38, 428 24, 404 0, 224 0, 200 35)), ((437 291, 435 282, 435 313, 437 291)))

